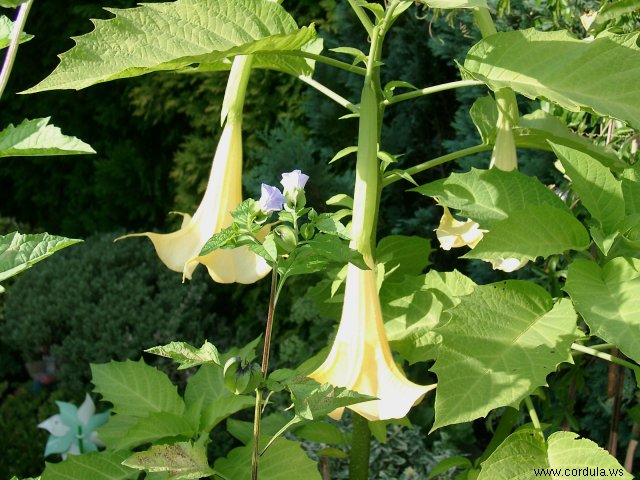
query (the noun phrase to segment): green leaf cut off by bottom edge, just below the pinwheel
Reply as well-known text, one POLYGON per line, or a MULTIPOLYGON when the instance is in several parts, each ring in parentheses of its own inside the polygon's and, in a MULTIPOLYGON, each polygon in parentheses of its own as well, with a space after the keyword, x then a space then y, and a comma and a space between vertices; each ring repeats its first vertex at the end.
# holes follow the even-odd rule
POLYGON ((131 452, 91 452, 71 455, 60 463, 47 463, 42 480, 134 480, 139 472, 121 465, 131 452))

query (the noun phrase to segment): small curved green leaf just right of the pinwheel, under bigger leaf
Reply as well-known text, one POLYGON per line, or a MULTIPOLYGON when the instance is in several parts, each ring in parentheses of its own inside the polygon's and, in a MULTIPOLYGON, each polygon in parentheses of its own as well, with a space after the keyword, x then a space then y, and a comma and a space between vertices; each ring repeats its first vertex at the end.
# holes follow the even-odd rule
MULTIPOLYGON (((119 417, 119 415, 115 415, 119 417)), ((131 417, 126 417, 131 418, 131 417)), ((197 432, 193 425, 183 416, 172 413, 152 413, 147 417, 137 419, 119 439, 113 448, 115 450, 132 449, 145 443, 171 437, 193 437, 197 432)))

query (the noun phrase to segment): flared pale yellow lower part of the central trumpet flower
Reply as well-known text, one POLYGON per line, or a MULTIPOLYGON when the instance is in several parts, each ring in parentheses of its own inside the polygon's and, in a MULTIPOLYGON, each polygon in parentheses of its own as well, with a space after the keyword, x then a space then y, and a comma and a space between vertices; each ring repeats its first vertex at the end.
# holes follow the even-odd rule
MULTIPOLYGON (((435 385, 409 381, 393 361, 382 322, 375 270, 349 264, 342 318, 327 359, 309 375, 320 383, 377 397, 350 408, 368 420, 404 417, 435 385)), ((340 418, 343 409, 331 417, 340 418)))

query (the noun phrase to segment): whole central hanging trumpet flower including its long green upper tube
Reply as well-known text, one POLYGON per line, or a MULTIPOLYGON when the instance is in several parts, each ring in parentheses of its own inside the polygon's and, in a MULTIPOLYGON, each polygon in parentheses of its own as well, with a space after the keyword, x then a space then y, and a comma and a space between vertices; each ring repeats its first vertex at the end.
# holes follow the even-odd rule
MULTIPOLYGON (((360 270, 348 265, 336 338, 324 363, 309 377, 377 397, 378 400, 347 408, 368 420, 388 420, 404 417, 435 385, 417 385, 404 376, 393 361, 384 331, 372 253, 379 182, 377 100, 373 90, 364 89, 360 105, 350 246, 362 254, 372 269, 360 270)), ((340 418, 342 411, 337 409, 331 416, 340 418)))

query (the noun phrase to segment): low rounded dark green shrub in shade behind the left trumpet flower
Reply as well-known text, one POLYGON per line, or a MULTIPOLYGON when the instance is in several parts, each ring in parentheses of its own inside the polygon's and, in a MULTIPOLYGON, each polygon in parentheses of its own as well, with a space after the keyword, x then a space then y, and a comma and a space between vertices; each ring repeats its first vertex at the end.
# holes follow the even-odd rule
POLYGON ((114 244, 116 236, 91 237, 55 255, 6 292, 2 340, 24 361, 53 355, 66 394, 89 389, 89 363, 137 358, 171 340, 218 343, 221 336, 224 317, 204 269, 181 284, 147 240, 114 244))

